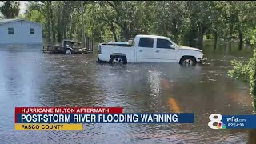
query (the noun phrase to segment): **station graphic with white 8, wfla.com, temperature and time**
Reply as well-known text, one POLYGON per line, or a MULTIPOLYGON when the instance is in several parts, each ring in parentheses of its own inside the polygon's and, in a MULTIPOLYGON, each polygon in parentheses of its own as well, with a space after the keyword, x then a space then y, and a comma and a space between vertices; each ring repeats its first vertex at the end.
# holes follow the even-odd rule
POLYGON ((210 114, 208 126, 211 129, 255 129, 256 115, 210 114))

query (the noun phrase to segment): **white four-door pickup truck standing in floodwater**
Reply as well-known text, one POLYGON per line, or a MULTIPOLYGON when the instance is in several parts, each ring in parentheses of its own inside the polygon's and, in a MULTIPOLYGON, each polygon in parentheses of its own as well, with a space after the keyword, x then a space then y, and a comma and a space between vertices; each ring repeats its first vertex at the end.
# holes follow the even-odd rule
POLYGON ((136 35, 132 45, 99 44, 98 62, 138 63, 177 62, 194 66, 202 62, 202 50, 178 46, 170 38, 156 35, 136 35))

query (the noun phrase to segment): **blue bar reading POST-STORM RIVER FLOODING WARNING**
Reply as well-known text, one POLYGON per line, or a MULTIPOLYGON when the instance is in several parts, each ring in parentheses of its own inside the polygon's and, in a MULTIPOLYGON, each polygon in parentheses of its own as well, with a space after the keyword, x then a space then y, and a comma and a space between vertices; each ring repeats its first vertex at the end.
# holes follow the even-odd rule
POLYGON ((17 123, 194 123, 194 114, 18 114, 17 123))

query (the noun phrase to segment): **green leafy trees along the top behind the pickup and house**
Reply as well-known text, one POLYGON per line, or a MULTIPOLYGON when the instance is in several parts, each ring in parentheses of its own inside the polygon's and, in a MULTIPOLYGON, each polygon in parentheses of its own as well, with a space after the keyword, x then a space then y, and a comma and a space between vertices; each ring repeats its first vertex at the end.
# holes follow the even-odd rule
MULTIPOLYGON (((4 1, 0 10, 15 18, 18 6, 4 1)), ((24 17, 42 23, 47 42, 82 34, 98 42, 158 34, 202 46, 204 38, 254 43, 255 8, 253 1, 29 1, 24 17)))

